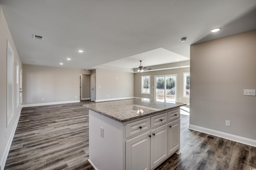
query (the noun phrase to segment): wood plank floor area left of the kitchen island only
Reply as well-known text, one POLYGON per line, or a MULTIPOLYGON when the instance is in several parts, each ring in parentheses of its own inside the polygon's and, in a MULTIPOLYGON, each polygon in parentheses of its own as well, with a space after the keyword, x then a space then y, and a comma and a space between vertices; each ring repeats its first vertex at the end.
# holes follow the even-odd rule
POLYGON ((23 108, 5 169, 94 169, 88 162, 89 119, 83 104, 23 108))

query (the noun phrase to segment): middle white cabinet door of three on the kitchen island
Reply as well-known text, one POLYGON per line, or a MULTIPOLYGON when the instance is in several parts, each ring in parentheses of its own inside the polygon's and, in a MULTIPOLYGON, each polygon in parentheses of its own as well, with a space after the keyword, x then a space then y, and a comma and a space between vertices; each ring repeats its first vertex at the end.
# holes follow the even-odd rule
POLYGON ((158 163, 164 160, 168 154, 168 124, 151 130, 151 158, 150 168, 154 168, 158 163))

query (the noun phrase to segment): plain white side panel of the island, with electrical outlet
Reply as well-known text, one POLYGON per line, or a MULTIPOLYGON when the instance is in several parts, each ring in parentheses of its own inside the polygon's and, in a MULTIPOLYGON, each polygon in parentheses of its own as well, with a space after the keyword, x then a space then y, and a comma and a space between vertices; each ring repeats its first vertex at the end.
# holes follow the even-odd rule
POLYGON ((96 170, 125 169, 123 142, 121 122, 89 110, 89 161, 96 170))

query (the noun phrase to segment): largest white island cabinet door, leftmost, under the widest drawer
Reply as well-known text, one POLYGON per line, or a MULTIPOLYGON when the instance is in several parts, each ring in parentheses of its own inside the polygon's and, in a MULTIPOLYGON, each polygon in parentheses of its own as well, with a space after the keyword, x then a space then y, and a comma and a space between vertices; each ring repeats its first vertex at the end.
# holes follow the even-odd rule
POLYGON ((126 170, 150 170, 150 131, 126 140, 126 170))

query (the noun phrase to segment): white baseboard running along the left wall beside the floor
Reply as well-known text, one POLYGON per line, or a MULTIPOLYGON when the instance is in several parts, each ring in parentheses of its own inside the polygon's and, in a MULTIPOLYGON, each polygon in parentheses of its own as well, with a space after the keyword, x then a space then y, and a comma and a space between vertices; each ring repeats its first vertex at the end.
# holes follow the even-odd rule
POLYGON ((20 119, 20 113, 19 113, 19 115, 18 115, 18 117, 16 119, 15 126, 12 129, 12 133, 10 135, 10 138, 8 139, 7 146, 5 147, 4 153, 2 154, 2 159, 0 160, 0 170, 4 169, 4 166, 5 166, 5 163, 6 163, 8 154, 9 154, 9 151, 10 151, 10 147, 12 145, 12 140, 13 140, 13 137, 14 137, 15 130, 17 128, 19 119, 20 119))

